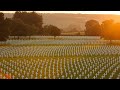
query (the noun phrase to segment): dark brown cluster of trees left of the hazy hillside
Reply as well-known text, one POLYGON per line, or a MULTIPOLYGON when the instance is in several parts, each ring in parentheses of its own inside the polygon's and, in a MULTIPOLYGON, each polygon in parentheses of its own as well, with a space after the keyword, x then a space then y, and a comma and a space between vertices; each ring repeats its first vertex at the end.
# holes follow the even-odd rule
POLYGON ((17 11, 10 18, 4 18, 0 13, 0 41, 6 41, 9 36, 33 36, 33 35, 51 35, 59 36, 61 30, 53 25, 43 27, 42 15, 35 12, 17 11))

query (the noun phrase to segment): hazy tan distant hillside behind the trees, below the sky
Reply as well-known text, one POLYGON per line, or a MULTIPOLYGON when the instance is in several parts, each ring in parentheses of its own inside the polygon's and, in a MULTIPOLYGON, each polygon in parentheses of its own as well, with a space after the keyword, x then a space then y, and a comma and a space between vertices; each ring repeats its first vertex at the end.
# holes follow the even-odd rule
MULTIPOLYGON (((101 15, 101 14, 49 14, 44 13, 43 23, 56 25, 64 31, 69 31, 73 27, 76 27, 78 31, 85 29, 85 22, 87 20, 98 20, 100 23, 107 19, 114 19, 116 22, 120 22, 120 15, 101 15), (71 27, 73 26, 73 27, 71 27)), ((5 17, 12 18, 13 14, 5 13, 5 17)))

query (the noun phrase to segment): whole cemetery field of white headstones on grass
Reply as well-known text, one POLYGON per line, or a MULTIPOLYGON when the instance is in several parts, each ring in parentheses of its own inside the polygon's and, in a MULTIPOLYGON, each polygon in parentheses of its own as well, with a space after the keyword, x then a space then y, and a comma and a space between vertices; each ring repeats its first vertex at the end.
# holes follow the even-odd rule
POLYGON ((36 38, 1 42, 1 79, 120 79, 120 45, 99 37, 36 38))

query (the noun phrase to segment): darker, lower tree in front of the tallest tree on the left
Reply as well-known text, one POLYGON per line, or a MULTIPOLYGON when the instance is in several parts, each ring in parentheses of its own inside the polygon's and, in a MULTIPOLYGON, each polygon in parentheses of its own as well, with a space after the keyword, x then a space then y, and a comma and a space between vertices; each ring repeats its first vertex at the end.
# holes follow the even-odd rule
POLYGON ((13 19, 11 24, 11 36, 30 36, 35 35, 38 28, 34 25, 25 24, 21 19, 13 19))

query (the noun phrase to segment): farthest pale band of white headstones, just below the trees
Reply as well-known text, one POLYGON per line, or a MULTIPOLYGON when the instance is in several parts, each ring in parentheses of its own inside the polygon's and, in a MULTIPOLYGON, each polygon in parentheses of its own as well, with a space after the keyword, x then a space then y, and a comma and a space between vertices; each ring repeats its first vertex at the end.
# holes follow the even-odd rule
MULTIPOLYGON (((114 41, 114 42, 120 42, 120 41, 114 41)), ((6 44, 15 44, 15 45, 48 45, 48 44, 107 44, 109 43, 109 40, 54 40, 54 39, 43 39, 43 40, 7 40, 6 44)), ((0 44, 5 44, 3 42, 0 42, 0 44)))

